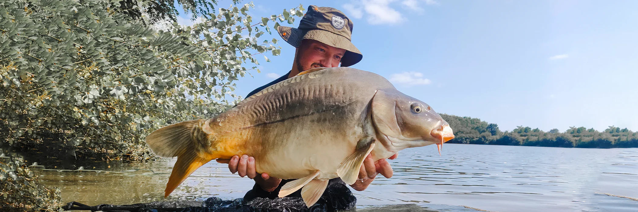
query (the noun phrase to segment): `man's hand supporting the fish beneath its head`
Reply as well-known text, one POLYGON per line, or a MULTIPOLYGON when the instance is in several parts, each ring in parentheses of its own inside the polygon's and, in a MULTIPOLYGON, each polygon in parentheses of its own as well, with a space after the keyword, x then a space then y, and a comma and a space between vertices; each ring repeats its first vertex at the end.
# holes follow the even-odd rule
MULTIPOLYGON (((398 156, 399 154, 397 153, 388 159, 394 160, 398 156)), ((392 167, 390 167, 390 164, 385 159, 377 160, 375 163, 372 157, 367 155, 359 169, 359 180, 357 180, 355 184, 350 185, 350 187, 358 191, 366 190, 370 183, 375 180, 376 174, 382 174, 385 178, 392 178, 392 167)))

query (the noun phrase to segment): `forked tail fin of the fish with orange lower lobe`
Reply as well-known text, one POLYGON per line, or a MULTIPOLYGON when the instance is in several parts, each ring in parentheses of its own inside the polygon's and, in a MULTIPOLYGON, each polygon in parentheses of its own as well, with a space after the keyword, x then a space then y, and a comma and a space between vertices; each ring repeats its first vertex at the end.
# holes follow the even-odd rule
POLYGON ((168 197, 168 194, 186 180, 195 169, 212 160, 205 159, 196 152, 196 143, 203 143, 207 138, 207 134, 202 131, 200 126, 204 122, 204 119, 179 122, 162 127, 146 137, 146 143, 156 155, 161 157, 177 156, 177 162, 175 162, 170 178, 168 178, 164 197, 168 197))

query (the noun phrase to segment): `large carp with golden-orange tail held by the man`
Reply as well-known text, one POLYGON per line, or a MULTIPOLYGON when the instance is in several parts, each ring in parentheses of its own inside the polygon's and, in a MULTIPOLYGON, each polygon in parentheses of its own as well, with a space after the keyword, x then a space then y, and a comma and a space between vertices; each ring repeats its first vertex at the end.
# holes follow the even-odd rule
POLYGON ((454 138, 450 125, 425 102, 399 92, 378 74, 318 67, 251 95, 212 118, 161 127, 146 137, 152 152, 177 157, 165 197, 198 167, 234 155, 255 158, 257 173, 297 179, 279 197, 302 189, 306 206, 328 181, 356 182, 367 155, 387 159, 405 148, 454 138))

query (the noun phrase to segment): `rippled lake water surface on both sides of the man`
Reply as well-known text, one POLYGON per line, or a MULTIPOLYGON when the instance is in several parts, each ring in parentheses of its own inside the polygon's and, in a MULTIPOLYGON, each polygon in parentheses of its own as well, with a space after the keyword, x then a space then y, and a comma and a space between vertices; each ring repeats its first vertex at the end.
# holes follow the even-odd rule
MULTIPOLYGON (((63 201, 95 205, 163 199, 174 159, 115 165, 89 171, 39 171, 60 187, 63 201), (135 175, 134 175, 135 174, 135 175)), ((42 164, 42 162, 40 162, 42 164)), ((390 162, 394 176, 379 176, 357 196, 357 211, 636 211, 638 148, 581 149, 528 146, 436 146, 411 148, 390 162)), ((54 164, 42 164, 52 168, 54 164)), ((85 169, 93 169, 85 167, 85 169)), ((211 162, 193 173, 166 200, 216 196, 235 199, 252 187, 248 178, 211 162)))

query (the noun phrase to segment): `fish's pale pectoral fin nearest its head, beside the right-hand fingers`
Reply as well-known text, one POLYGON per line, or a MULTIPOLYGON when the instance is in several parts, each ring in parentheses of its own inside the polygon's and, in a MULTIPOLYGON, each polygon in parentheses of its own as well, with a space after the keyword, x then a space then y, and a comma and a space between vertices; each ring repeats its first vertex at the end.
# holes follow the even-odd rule
POLYGON ((339 169, 337 169, 337 175, 339 178, 348 185, 355 184, 357 176, 359 176, 359 168, 361 167, 361 164, 363 164, 363 160, 366 159, 367 154, 375 148, 374 139, 368 142, 368 148, 357 148, 354 153, 348 155, 348 157, 341 162, 339 169))

